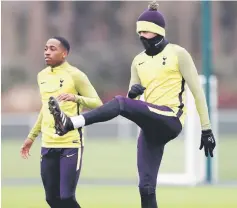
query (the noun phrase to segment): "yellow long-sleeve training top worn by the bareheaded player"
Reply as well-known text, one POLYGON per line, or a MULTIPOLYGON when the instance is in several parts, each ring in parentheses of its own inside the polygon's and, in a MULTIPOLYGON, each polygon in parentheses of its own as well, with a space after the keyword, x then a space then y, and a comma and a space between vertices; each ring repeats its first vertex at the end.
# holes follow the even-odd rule
POLYGON ((70 131, 64 136, 56 134, 55 122, 50 114, 48 101, 50 96, 57 97, 62 93, 74 94, 76 102, 62 101, 59 103, 62 111, 68 116, 79 115, 83 107, 93 109, 101 106, 102 102, 85 73, 68 62, 64 62, 55 68, 47 67, 43 69, 38 73, 37 80, 42 108, 28 138, 34 140, 42 132, 42 147, 69 148, 83 146, 84 137, 81 130, 70 131))

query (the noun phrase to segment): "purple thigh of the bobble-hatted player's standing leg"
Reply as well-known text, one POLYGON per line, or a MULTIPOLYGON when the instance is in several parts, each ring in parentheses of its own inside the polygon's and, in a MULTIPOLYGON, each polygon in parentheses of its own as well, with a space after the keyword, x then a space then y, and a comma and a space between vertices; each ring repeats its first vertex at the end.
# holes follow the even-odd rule
POLYGON ((157 175, 164 152, 164 145, 149 142, 147 135, 140 132, 137 144, 137 168, 139 187, 156 187, 157 175))

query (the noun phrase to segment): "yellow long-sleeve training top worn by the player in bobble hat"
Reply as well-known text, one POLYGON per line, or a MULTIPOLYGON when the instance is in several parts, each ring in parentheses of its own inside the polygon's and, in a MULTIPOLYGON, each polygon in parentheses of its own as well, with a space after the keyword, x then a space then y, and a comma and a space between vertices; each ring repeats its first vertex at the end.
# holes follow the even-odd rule
POLYGON ((184 48, 168 44, 155 56, 148 56, 145 52, 138 54, 131 66, 129 89, 134 84, 146 87, 146 102, 173 109, 182 125, 186 114, 184 92, 187 84, 194 96, 202 129, 211 128, 197 69, 191 55, 184 48))

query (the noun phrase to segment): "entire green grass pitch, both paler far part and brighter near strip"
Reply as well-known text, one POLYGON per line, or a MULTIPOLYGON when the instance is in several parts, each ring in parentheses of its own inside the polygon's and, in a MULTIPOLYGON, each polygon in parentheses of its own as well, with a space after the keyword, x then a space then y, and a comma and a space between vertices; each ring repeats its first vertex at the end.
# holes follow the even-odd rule
MULTIPOLYGON (((46 208, 41 184, 27 180, 38 179, 40 142, 34 144, 29 160, 19 156, 21 140, 2 140, 2 207, 46 208), (15 184, 23 181, 24 184, 15 184), (4 183, 6 181, 11 184, 4 183)), ((219 142, 219 176, 221 181, 237 181, 236 138, 219 142)), ((136 141, 86 140, 80 181, 128 180, 137 182, 136 141)), ((198 147, 197 147, 198 148, 198 147)), ((161 172, 184 169, 183 144, 177 140, 165 151, 161 172)), ((166 187, 157 190, 159 207, 164 208, 236 208, 237 186, 166 187)), ((83 208, 138 208, 140 198, 136 185, 113 186, 78 185, 77 198, 83 208)))

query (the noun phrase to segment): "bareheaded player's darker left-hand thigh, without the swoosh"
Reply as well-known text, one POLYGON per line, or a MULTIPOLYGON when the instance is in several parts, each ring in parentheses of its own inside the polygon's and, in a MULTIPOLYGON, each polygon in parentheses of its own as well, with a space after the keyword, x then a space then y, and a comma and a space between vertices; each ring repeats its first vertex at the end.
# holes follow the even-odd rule
POLYGON ((46 198, 55 198, 60 194, 60 150, 41 148, 40 172, 46 198))

